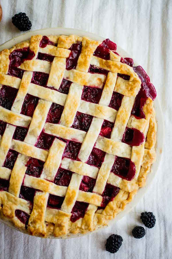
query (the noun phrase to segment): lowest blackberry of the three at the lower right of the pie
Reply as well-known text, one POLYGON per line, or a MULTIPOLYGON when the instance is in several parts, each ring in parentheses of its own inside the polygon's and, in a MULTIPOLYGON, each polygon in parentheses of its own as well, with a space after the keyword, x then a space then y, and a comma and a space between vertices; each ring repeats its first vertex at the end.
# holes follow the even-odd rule
POLYGON ((106 241, 106 251, 114 254, 116 253, 120 246, 122 245, 122 237, 118 235, 110 235, 106 241))

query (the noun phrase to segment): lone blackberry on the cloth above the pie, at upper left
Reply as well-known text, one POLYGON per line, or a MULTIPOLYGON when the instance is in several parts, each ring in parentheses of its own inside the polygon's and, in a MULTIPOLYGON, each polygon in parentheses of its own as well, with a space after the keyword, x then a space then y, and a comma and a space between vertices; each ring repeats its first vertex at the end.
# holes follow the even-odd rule
POLYGON ((32 23, 25 13, 18 13, 12 17, 12 23, 20 31, 28 31, 32 27, 32 23))

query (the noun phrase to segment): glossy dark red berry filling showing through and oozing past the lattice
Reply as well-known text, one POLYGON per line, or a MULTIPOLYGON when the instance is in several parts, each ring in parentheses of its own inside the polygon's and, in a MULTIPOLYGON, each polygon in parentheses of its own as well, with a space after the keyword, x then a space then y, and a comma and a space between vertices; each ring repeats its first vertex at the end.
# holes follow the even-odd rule
MULTIPOLYGON (((52 41, 50 41, 48 37, 43 36, 42 40, 40 41, 40 47, 44 48, 47 45, 57 46, 52 41)), ((66 59, 67 70, 76 68, 79 55, 81 54, 82 43, 81 42, 74 43, 69 49, 71 50, 71 53, 69 55, 69 58, 66 59)), ((105 60, 110 60, 110 50, 112 50, 114 53, 118 55, 118 53, 116 52, 116 44, 110 41, 109 39, 106 39, 101 43, 101 45, 97 47, 93 55, 99 58, 103 58, 105 60)), ((29 48, 14 50, 9 56, 10 64, 9 64, 8 75, 22 78, 24 71, 18 68, 18 66, 20 66, 25 60, 31 60, 32 58, 34 58, 34 56, 35 56, 34 52, 32 52, 29 48)), ((37 59, 53 62, 54 56, 38 52, 37 59)), ((141 89, 136 96, 131 114, 134 115, 137 119, 145 118, 145 115, 143 112, 143 106, 146 103, 146 99, 148 97, 152 98, 153 100, 155 99, 156 97, 155 88, 150 83, 150 78, 143 70, 143 68, 141 66, 137 66, 137 67, 133 66, 134 62, 131 58, 124 58, 124 59, 121 58, 121 62, 124 62, 129 66, 132 66, 134 71, 138 74, 139 78, 141 79, 141 82, 142 82, 141 89)), ((107 70, 98 68, 94 65, 90 65, 88 72, 91 74, 97 73, 105 76, 107 76, 108 74, 107 70)), ((49 77, 49 74, 42 73, 42 72, 33 72, 31 83, 34 83, 36 85, 40 85, 43 87, 48 87, 47 86, 48 77, 49 77)), ((118 73, 118 77, 122 77, 124 80, 130 79, 130 76, 119 74, 119 73, 118 73)), ((63 79, 59 89, 58 90, 55 89, 55 90, 63 94, 68 94, 71 83, 72 83, 71 81, 63 79)), ((13 87, 3 85, 0 88, 0 105, 8 110, 11 110, 11 107, 17 95, 17 91, 18 90, 13 87)), ((87 102, 98 104, 101 99, 102 91, 103 91, 103 88, 100 89, 97 87, 84 86, 81 99, 87 102)), ((109 107, 118 111, 122 103, 122 98, 123 98, 122 94, 113 92, 109 107)), ((32 117, 35 111, 35 108, 38 104, 38 100, 39 100, 38 97, 32 96, 30 94, 26 94, 26 97, 24 99, 24 103, 21 109, 21 114, 32 117)), ((50 110, 48 112, 48 116, 46 118, 46 122, 58 124, 63 110, 64 110, 64 106, 61 106, 60 104, 52 103, 50 110)), ((84 132, 88 132, 92 120, 93 120, 93 116, 77 111, 73 125, 71 127, 74 129, 79 129, 84 132)), ((6 125, 7 123, 0 121, 0 135, 3 135, 6 125)), ((114 127, 113 122, 104 120, 101 126, 101 131, 99 135, 105 138, 110 138, 113 127, 114 127)), ((28 128, 17 126, 13 135, 13 139, 24 141, 27 133, 28 133, 28 128)), ((49 150, 55 138, 58 138, 58 137, 46 134, 43 130, 38 138, 36 147, 44 150, 49 150)), ((81 143, 76 141, 69 141, 65 139, 61 139, 61 140, 67 143, 62 159, 65 157, 65 158, 79 161, 78 155, 81 149, 81 143)), ((140 132, 138 129, 126 127, 126 130, 122 138, 122 142, 130 146, 139 146, 144 142, 144 134, 140 132)), ((18 156, 18 153, 10 149, 7 153, 3 166, 12 170, 14 163, 17 159, 17 156, 18 156)), ((105 158, 105 152, 94 147, 93 150, 91 151, 91 154, 89 155, 87 164, 93 167, 100 168, 104 161, 104 158, 105 158)), ((39 178, 42 174, 43 166, 44 166, 43 161, 30 157, 26 164, 26 167, 27 167, 26 174, 39 178)), ((116 156, 111 172, 113 172, 115 175, 119 176, 122 179, 131 181, 135 176, 136 168, 135 168, 135 164, 131 161, 131 159, 116 156)), ((72 174, 73 172, 59 167, 57 174, 54 178, 54 184, 60 185, 60 186, 69 186, 72 174)), ((96 183, 96 179, 93 179, 89 176, 83 176, 79 190, 92 193, 95 183, 96 183)), ((9 188, 9 180, 0 179, 0 191, 8 191, 8 188, 9 188)), ((111 184, 106 184, 105 189, 101 195, 102 196, 101 207, 98 207, 98 210, 102 208, 104 209, 106 205, 110 201, 112 201, 115 198, 115 196, 119 193, 119 190, 120 188, 116 186, 113 186, 111 184)), ((34 201, 34 195, 36 191, 38 190, 24 186, 24 181, 23 181, 23 184, 21 185, 19 197, 27 201, 30 201, 31 212, 32 212, 32 206, 34 201)), ((63 201, 64 201, 64 197, 49 194, 47 207, 60 210, 63 201)), ((89 206, 89 203, 76 201, 71 211, 71 221, 75 222, 79 218, 83 218, 88 206, 89 206)), ((15 210, 15 216, 22 223, 24 223, 27 228, 30 215, 24 211, 15 210)))

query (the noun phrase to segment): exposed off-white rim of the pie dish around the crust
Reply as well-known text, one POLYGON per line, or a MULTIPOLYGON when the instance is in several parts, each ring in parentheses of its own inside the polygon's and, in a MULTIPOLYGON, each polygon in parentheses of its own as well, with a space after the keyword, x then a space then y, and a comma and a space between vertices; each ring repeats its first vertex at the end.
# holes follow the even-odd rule
MULTIPOLYGON (((10 39, 9 41, 3 43, 0 46, 0 51, 5 49, 5 48, 9 49, 13 45, 15 45, 15 44, 17 44, 21 41, 26 41, 26 40, 30 39, 30 37, 32 35, 37 35, 37 34, 41 34, 41 35, 72 35, 72 34, 75 34, 75 35, 79 35, 79 36, 90 37, 91 39, 94 39, 94 40, 99 40, 99 41, 104 40, 103 37, 100 37, 100 36, 98 36, 96 34, 93 34, 93 33, 81 31, 81 30, 70 29, 70 28, 60 28, 60 27, 58 27, 58 28, 46 28, 46 29, 41 29, 41 30, 36 30, 36 31, 30 31, 28 33, 25 33, 25 34, 22 34, 18 37, 10 39)), ((113 41, 113 39, 111 39, 111 40, 113 41)), ((126 51, 124 51, 119 46, 117 46, 117 52, 122 57, 131 57, 130 54, 128 54, 126 51)), ((134 62, 134 66, 138 66, 138 65, 139 65, 139 63, 134 62)), ((155 89, 156 89, 156 86, 155 86, 155 89)), ((159 166, 160 166, 160 163, 161 163, 161 159, 162 159, 162 155, 163 155, 163 139, 164 139, 163 115, 162 115, 161 105, 160 105, 158 97, 156 97, 156 99, 154 101, 154 107, 155 107, 155 111, 156 111, 156 121, 157 121, 157 142, 156 142, 156 146, 155 146, 156 154, 157 154, 157 160, 151 166, 151 173, 149 173, 147 178, 146 178, 146 185, 142 188, 139 188, 137 194, 135 195, 133 200, 129 204, 127 204, 124 211, 120 212, 113 220, 110 221, 110 223, 108 225, 114 224, 116 221, 123 218, 130 210, 132 210, 134 208, 134 206, 136 206, 136 204, 142 199, 143 195, 146 193, 148 188, 150 188, 150 186, 152 185, 153 179, 155 178, 155 175, 158 172, 158 169, 159 169, 159 166), (159 121, 161 121, 161 123, 158 123, 159 121)), ((4 220, 1 220, 1 219, 0 219, 0 221, 7 224, 8 226, 16 229, 16 230, 19 230, 9 221, 4 221, 4 220)), ((96 231, 98 231, 98 230, 96 230, 96 231)), ((95 231, 93 231, 93 232, 95 232, 95 231)), ((93 232, 89 232, 89 233, 93 233, 93 232)), ((77 237, 77 236, 83 236, 83 234, 71 235, 67 238, 77 237)), ((50 238, 55 238, 55 237, 51 236, 50 238)))

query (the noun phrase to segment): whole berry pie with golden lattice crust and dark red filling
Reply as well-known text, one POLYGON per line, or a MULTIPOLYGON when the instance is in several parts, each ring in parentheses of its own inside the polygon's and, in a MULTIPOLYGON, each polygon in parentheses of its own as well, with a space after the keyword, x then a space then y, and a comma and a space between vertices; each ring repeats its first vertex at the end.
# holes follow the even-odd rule
POLYGON ((1 51, 1 219, 40 237, 107 225, 155 161, 155 97, 109 39, 34 35, 1 51))

